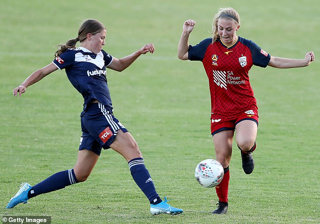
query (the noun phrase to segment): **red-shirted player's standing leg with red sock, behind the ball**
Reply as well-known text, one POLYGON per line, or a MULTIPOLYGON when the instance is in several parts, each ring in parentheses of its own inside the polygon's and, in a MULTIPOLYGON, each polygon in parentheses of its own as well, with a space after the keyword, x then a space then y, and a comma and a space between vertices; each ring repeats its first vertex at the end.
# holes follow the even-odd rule
POLYGON ((214 144, 216 151, 216 159, 224 167, 224 178, 221 183, 216 186, 217 196, 219 198, 218 208, 212 213, 214 214, 224 214, 228 211, 228 191, 229 191, 229 164, 232 155, 232 141, 233 141, 234 131, 227 130, 221 131, 214 134, 214 144))

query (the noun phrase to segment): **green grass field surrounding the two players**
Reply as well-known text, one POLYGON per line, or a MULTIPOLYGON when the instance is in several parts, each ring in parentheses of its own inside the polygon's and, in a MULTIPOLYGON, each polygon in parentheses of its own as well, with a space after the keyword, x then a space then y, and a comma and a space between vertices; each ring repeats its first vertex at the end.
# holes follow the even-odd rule
POLYGON ((11 1, 0 7, 0 215, 48 215, 52 223, 320 223, 320 90, 318 1, 11 1), (195 165, 214 157, 210 100, 201 63, 177 58, 186 19, 190 44, 208 37, 220 7, 241 17, 239 36, 272 55, 302 59, 307 68, 252 68, 259 106, 255 170, 247 176, 234 145, 229 211, 212 215, 214 189, 194 180, 195 165), (37 184, 73 167, 81 135, 82 97, 57 71, 28 88, 12 89, 53 60, 55 46, 77 36, 87 18, 108 29, 104 50, 122 58, 153 42, 122 73, 108 71, 115 115, 139 144, 156 189, 178 216, 151 216, 125 159, 105 150, 89 179, 6 209, 21 182, 37 184))

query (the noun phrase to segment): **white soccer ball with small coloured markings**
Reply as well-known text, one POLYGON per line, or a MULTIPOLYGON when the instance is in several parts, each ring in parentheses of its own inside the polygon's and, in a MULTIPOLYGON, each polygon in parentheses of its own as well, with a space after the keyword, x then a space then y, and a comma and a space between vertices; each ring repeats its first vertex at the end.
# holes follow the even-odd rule
POLYGON ((204 159, 195 167, 194 177, 203 187, 216 187, 222 181, 224 169, 215 159, 204 159))

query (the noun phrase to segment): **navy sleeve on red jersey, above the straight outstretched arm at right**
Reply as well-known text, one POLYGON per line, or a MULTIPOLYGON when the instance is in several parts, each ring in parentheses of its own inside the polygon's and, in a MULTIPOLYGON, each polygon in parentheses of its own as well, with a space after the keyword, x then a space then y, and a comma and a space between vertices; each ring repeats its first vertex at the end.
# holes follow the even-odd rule
POLYGON ((250 48, 253 65, 265 68, 268 66, 271 55, 251 40, 246 40, 246 45, 250 48))

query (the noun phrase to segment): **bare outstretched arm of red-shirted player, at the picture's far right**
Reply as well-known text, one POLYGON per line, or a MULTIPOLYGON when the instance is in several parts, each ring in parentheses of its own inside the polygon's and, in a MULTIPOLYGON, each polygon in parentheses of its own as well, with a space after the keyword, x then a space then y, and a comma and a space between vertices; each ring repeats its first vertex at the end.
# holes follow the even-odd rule
POLYGON ((286 59, 271 56, 269 66, 278 68, 278 69, 289 69, 289 68, 300 68, 310 65, 314 61, 313 51, 307 52, 304 59, 286 59))

